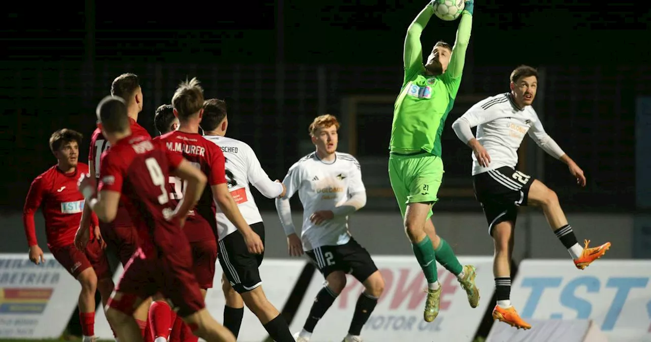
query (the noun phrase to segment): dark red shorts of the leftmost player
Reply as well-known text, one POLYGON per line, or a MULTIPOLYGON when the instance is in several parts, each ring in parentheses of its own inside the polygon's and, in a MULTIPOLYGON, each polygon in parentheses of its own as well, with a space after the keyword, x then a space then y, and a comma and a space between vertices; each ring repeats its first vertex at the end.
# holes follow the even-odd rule
POLYGON ((97 240, 90 240, 85 251, 80 251, 74 244, 64 247, 50 246, 49 251, 54 255, 54 259, 57 259, 61 266, 68 270, 68 273, 75 279, 89 267, 95 270, 99 280, 113 277, 109 261, 104 255, 104 249, 97 240))

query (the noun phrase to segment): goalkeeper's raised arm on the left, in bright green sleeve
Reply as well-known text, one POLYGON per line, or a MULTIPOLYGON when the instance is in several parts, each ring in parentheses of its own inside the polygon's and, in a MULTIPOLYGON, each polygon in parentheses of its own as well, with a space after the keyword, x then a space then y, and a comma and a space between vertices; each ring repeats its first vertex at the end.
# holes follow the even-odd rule
POLYGON ((411 25, 407 29, 407 36, 405 37, 405 44, 403 50, 403 63, 405 70, 405 79, 407 82, 413 76, 422 71, 422 45, 421 33, 425 28, 430 18, 434 15, 434 8, 431 4, 422 8, 418 16, 411 21, 411 25))

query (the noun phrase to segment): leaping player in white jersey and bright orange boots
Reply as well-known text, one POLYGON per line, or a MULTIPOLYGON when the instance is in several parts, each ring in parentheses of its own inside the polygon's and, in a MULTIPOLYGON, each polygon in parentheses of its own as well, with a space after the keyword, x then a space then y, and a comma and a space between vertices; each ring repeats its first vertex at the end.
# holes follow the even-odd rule
POLYGON ((529 329, 509 300, 511 286, 510 260, 518 207, 541 207, 555 235, 568 249, 574 264, 583 270, 599 259, 610 248, 610 242, 589 248, 585 240, 582 248, 568 224, 552 190, 539 180, 516 171, 518 148, 525 134, 547 154, 568 165, 577 184, 585 186, 585 176, 579 166, 545 132, 531 104, 538 87, 538 72, 531 66, 519 66, 510 77, 510 93, 486 98, 468 109, 452 128, 456 135, 473 149, 473 186, 475 197, 482 204, 488 233, 495 240, 493 274, 497 306, 493 319, 529 329), (477 137, 471 128, 477 126, 477 137))

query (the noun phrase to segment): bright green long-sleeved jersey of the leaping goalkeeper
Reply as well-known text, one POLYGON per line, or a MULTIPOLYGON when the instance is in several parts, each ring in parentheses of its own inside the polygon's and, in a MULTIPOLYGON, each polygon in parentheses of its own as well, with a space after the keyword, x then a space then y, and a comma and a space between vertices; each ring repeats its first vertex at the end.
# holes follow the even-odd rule
POLYGON ((426 151, 441 156, 441 132, 461 85, 472 29, 472 16, 464 10, 447 70, 428 76, 422 64, 421 33, 434 14, 427 5, 409 25, 404 45, 404 81, 393 108, 389 149, 426 151))

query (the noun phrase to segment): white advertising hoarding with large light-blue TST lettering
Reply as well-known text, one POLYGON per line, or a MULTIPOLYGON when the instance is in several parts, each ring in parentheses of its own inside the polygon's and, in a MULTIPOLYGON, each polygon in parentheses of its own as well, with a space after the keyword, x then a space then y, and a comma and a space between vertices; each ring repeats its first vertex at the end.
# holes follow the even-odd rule
POLYGON ((651 260, 525 260, 511 302, 525 320, 592 319, 611 341, 651 341, 650 276, 651 260))

